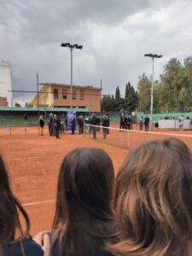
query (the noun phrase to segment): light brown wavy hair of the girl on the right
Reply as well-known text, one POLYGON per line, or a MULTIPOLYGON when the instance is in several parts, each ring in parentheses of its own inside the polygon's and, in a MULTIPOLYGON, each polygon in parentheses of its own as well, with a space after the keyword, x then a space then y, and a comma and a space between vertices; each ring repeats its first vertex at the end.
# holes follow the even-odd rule
POLYGON ((114 207, 124 234, 114 255, 188 255, 192 237, 192 157, 176 138, 133 150, 120 167, 114 207))

